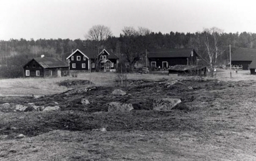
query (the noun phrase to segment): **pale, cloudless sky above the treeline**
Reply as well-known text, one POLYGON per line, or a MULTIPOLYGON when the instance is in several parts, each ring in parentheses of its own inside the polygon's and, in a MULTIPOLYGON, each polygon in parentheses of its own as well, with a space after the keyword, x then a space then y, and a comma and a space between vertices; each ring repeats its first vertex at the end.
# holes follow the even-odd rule
POLYGON ((244 0, 0 0, 0 40, 81 39, 93 25, 152 32, 256 33, 254 1, 244 0))

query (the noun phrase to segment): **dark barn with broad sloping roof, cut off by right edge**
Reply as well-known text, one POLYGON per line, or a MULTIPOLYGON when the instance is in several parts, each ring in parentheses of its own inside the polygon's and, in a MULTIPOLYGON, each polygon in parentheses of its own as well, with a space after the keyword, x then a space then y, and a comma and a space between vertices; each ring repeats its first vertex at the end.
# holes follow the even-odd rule
MULTIPOLYGON (((242 67, 248 70, 249 65, 256 59, 256 50, 250 48, 231 48, 231 65, 232 67, 242 67)), ((251 68, 251 66, 250 66, 251 68)))

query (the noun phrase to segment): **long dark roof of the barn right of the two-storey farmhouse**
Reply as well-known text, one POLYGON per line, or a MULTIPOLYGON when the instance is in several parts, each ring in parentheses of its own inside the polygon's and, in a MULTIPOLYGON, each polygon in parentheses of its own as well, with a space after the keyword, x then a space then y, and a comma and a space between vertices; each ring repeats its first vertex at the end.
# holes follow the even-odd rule
POLYGON ((149 58, 175 58, 175 57, 189 57, 191 51, 196 52, 193 48, 189 49, 154 49, 149 53, 149 58))

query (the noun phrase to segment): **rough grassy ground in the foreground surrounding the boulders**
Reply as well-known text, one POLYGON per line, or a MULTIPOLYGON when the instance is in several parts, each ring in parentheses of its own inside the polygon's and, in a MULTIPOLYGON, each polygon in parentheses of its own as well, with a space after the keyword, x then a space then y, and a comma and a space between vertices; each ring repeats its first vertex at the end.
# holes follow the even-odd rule
POLYGON ((0 104, 11 106, 0 108, 0 160, 256 159, 255 81, 188 77, 129 80, 127 87, 81 82, 81 88, 77 83, 75 89, 39 98, 1 97, 0 104), (116 88, 127 94, 112 95, 116 88), (82 104, 83 98, 90 104, 82 104), (188 109, 155 111, 158 98, 180 98, 188 109), (134 110, 107 112, 113 101, 130 103, 134 110), (28 103, 58 104, 60 110, 14 111, 16 104, 28 103))

